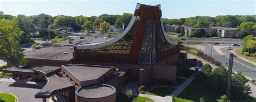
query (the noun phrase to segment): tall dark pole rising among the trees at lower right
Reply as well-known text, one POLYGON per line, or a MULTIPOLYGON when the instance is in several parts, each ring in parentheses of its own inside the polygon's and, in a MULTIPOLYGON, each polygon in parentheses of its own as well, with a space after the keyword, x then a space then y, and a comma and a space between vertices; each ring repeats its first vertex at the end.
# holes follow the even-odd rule
POLYGON ((233 67, 233 53, 230 53, 230 62, 228 63, 228 74, 227 74, 227 99, 230 100, 230 89, 231 89, 231 77, 232 77, 232 67, 233 67))

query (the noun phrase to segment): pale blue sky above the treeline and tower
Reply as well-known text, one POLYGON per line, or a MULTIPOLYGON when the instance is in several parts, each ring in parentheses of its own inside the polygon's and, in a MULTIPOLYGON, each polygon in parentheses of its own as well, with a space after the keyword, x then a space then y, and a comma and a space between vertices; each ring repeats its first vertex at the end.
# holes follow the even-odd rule
POLYGON ((51 16, 99 16, 134 13, 137 3, 161 4, 163 18, 256 15, 256 0, 0 0, 0 11, 17 16, 45 13, 51 16))

